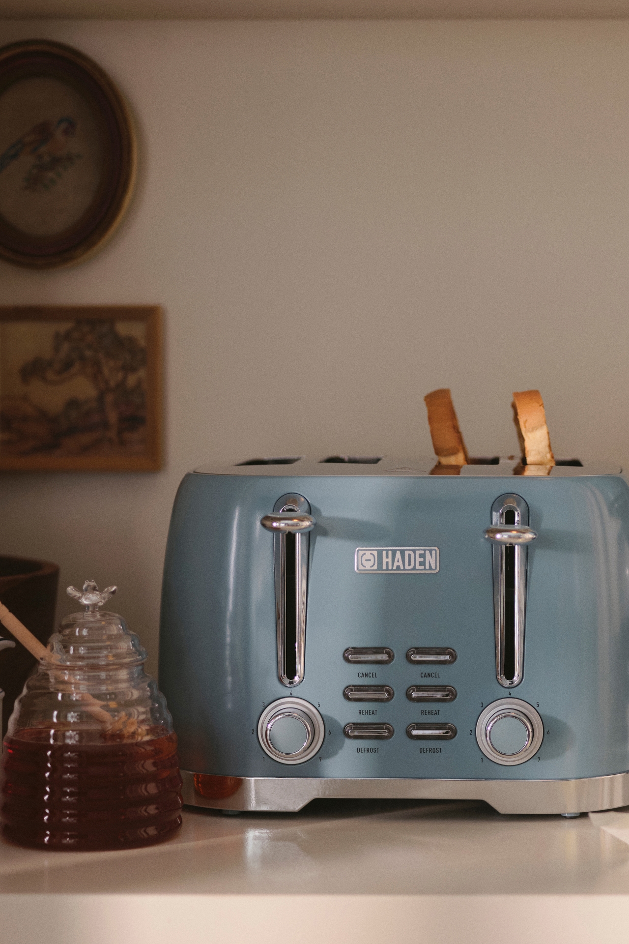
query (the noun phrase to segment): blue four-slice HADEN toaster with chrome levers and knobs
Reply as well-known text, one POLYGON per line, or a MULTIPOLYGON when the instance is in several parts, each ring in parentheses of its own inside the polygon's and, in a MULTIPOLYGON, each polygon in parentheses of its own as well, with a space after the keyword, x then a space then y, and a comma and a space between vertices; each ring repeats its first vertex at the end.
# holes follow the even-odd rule
POLYGON ((184 478, 159 687, 186 803, 629 803, 621 469, 431 466, 287 457, 184 478))

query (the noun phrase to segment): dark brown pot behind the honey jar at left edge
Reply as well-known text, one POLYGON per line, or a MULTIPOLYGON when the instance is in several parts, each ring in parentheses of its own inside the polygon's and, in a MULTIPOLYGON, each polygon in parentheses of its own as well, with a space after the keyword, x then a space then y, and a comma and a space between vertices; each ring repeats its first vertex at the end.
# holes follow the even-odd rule
MULTIPOLYGON (((21 620, 26 629, 45 646, 55 632, 55 608, 59 568, 48 561, 28 561, 22 557, 0 556, 0 601, 21 620)), ((0 623, 0 636, 13 639, 0 623)), ((22 692, 36 660, 24 646, 0 651, 0 688, 5 690, 2 736, 7 733, 13 702, 22 692)))

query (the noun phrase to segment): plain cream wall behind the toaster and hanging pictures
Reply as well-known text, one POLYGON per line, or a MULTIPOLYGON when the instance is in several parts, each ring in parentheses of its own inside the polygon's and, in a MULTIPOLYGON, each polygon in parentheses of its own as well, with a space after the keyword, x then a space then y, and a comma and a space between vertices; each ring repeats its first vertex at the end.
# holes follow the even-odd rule
POLYGON ((163 305, 167 455, 3 476, 0 550, 118 582, 153 670, 197 464, 430 453, 450 386, 472 453, 514 451, 539 387, 555 454, 629 466, 629 24, 0 24, 32 37, 119 83, 141 174, 99 255, 0 263, 0 300, 163 305))

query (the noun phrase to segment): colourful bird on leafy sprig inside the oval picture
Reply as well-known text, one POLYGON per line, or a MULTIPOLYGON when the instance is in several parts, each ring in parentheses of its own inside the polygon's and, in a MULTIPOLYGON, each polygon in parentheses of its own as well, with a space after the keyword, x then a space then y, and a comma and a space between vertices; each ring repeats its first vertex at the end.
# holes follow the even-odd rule
POLYGON ((74 118, 69 117, 59 118, 57 124, 42 121, 34 125, 0 154, 0 174, 14 160, 32 158, 34 160, 23 178, 23 189, 31 194, 49 191, 75 161, 81 158, 80 154, 73 153, 70 148, 70 140, 74 138, 75 133, 76 122, 74 118))

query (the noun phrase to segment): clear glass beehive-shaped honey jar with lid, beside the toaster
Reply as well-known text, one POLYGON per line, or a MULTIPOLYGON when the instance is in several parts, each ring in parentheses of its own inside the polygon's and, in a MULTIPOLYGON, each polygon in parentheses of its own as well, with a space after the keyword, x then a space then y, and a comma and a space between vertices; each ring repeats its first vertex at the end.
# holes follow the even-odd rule
POLYGON ((51 636, 15 702, 4 742, 0 828, 25 846, 122 849, 181 825, 176 734, 146 652, 124 619, 99 607, 115 593, 68 588, 85 606, 51 636))

